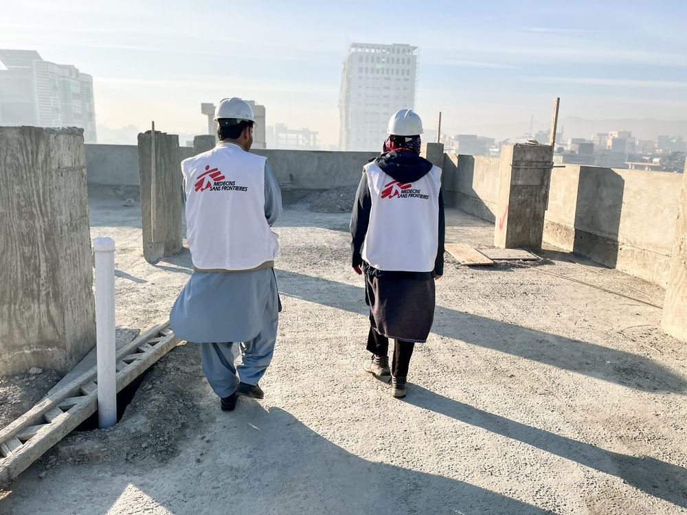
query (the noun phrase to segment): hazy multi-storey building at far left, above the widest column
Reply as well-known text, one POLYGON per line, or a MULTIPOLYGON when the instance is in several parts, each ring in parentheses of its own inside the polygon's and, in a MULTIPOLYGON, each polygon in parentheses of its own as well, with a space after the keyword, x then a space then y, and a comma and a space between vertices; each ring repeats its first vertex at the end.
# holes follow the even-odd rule
POLYGON ((76 126, 95 143, 93 78, 34 50, 0 49, 0 125, 76 126))

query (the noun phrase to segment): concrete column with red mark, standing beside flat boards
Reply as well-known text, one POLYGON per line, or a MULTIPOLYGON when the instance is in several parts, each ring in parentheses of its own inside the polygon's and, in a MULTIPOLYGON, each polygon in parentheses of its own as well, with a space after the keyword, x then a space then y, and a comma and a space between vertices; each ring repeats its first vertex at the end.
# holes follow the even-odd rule
POLYGON ((495 247, 541 249, 552 159, 550 145, 502 147, 495 247))

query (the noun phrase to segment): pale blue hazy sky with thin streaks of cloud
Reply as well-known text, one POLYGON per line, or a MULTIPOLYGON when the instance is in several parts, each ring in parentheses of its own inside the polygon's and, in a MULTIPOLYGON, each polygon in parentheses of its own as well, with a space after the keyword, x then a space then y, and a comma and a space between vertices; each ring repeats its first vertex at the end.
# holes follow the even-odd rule
POLYGON ((201 102, 338 139, 348 43, 420 47, 416 111, 449 133, 561 116, 687 119, 687 1, 0 0, 0 48, 94 78, 98 124, 205 127, 201 102), (427 7, 425 7, 427 5, 427 7))

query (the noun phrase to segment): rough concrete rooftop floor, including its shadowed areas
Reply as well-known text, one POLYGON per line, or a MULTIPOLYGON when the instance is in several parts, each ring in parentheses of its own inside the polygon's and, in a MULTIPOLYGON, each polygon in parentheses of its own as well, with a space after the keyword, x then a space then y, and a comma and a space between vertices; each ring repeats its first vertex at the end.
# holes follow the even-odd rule
MULTIPOLYGON (((93 236, 117 241, 117 325, 146 330, 188 279, 188 251, 150 266, 137 206, 91 213, 93 236)), ((488 223, 447 222, 447 240, 491 245, 488 223)), ((264 400, 219 411, 197 349, 179 345, 115 428, 69 435, 0 513, 686 512, 686 352, 660 331, 660 288, 565 253, 480 268, 447 256, 433 334, 396 400, 361 370, 347 225, 278 222, 284 311, 264 400)))

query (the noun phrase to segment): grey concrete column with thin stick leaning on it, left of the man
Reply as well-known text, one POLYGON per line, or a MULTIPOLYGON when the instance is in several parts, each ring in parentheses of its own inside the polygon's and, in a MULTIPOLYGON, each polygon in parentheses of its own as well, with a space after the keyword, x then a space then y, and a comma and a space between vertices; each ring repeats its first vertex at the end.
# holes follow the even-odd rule
MULTIPOLYGON (((138 135, 143 242, 151 241, 150 134, 138 135)), ((164 255, 181 251, 181 168, 179 136, 155 134, 155 242, 164 242, 164 255)))

